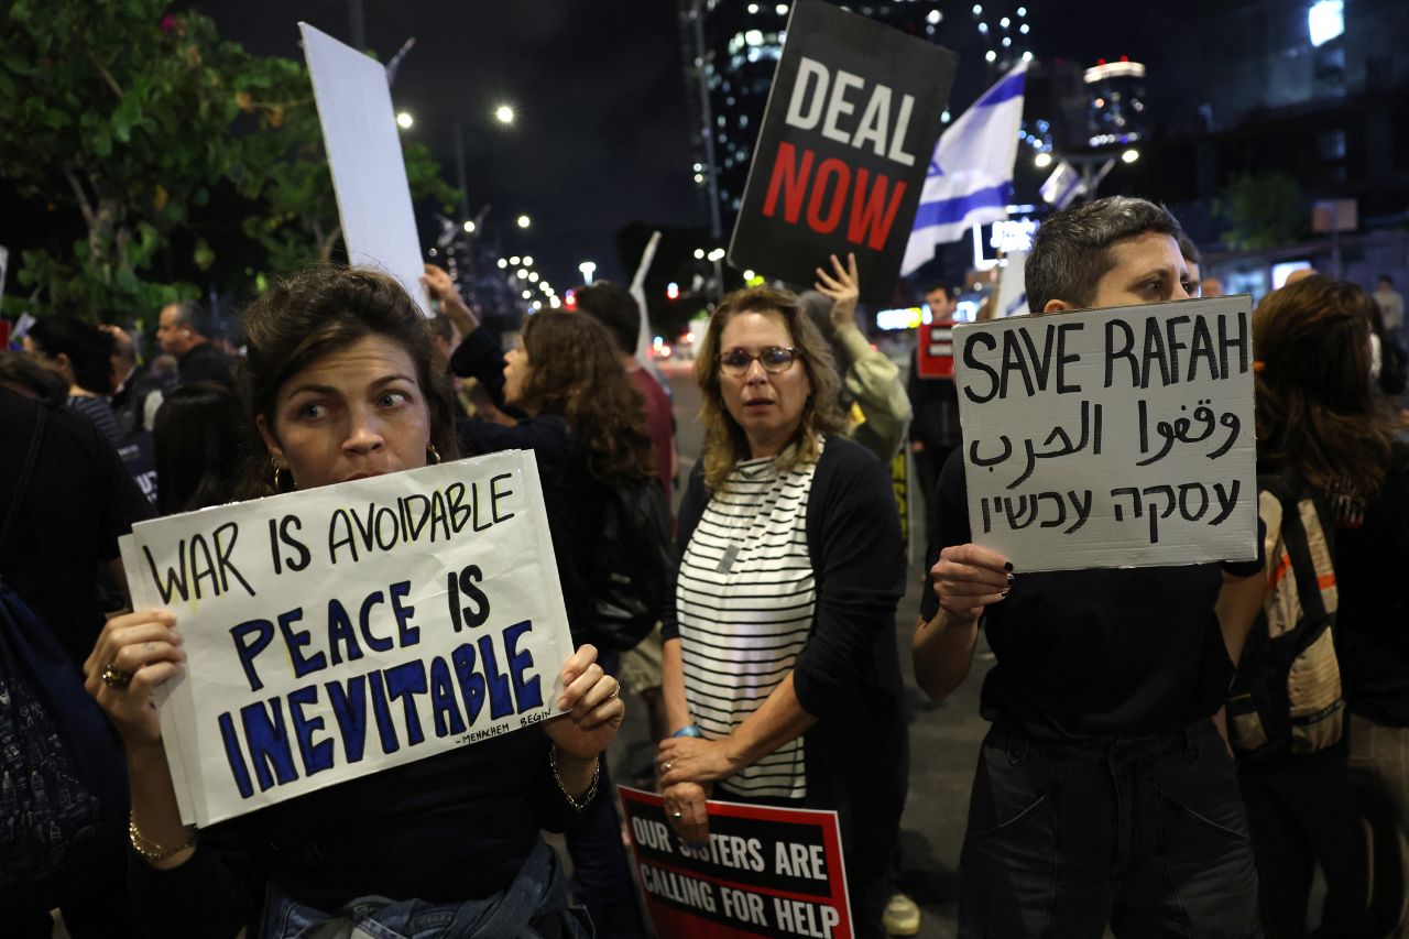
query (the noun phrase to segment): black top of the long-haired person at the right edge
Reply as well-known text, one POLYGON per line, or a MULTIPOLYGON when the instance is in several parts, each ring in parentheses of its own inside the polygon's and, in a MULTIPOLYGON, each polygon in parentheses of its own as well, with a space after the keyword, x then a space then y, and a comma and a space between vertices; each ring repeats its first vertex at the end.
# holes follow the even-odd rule
POLYGON ((1379 498, 1355 529, 1336 529, 1336 630, 1350 709, 1409 726, 1409 447, 1395 447, 1379 498))

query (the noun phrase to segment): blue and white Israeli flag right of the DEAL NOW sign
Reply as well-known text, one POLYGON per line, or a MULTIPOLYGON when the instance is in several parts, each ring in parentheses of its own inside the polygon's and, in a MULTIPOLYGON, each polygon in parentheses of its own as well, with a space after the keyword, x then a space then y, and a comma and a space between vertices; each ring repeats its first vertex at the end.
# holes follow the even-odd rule
POLYGON ((1026 83, 1027 62, 1020 62, 940 137, 920 190, 902 275, 930 261, 936 245, 958 241, 974 226, 1007 217, 1026 83))

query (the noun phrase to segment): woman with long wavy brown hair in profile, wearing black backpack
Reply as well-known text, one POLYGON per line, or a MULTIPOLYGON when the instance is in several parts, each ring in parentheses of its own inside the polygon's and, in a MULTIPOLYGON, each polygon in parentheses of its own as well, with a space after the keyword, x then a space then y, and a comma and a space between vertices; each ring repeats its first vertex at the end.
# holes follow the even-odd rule
MULTIPOLYGON (((466 454, 533 450, 542 478, 548 530, 558 561, 575 642, 592 642, 595 598, 589 574, 602 533, 603 505, 619 479, 650 479, 657 472, 644 403, 621 368, 620 352, 607 329, 590 316, 544 310, 528 317, 521 345, 504 355, 479 326, 448 278, 427 274, 427 289, 454 309, 464 341, 451 368, 475 378, 506 409, 528 415, 514 426, 486 420, 461 422, 466 454)), ((603 647, 602 667, 616 674, 616 653, 603 647)), ((602 767, 602 785, 610 777, 602 767)), ((634 939, 645 935, 631 870, 621 850, 621 822, 616 799, 600 799, 566 830, 576 897, 588 907, 604 936, 634 939)))

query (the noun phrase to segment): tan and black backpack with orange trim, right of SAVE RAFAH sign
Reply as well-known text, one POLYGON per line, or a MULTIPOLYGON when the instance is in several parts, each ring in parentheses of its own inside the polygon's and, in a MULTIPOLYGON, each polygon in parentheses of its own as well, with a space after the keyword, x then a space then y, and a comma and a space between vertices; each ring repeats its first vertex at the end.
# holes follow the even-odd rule
POLYGON ((1258 477, 1258 491, 1268 587, 1229 691, 1227 723, 1239 760, 1271 770, 1339 743, 1346 702, 1333 633, 1333 517, 1298 479, 1258 477))

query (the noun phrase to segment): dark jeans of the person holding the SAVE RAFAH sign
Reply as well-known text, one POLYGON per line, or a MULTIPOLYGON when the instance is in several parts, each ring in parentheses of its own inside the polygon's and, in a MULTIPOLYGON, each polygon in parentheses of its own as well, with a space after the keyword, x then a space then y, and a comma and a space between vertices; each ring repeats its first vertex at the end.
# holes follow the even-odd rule
POLYGON ((960 936, 1261 936, 1233 760, 1213 723, 1153 737, 983 740, 960 936))

